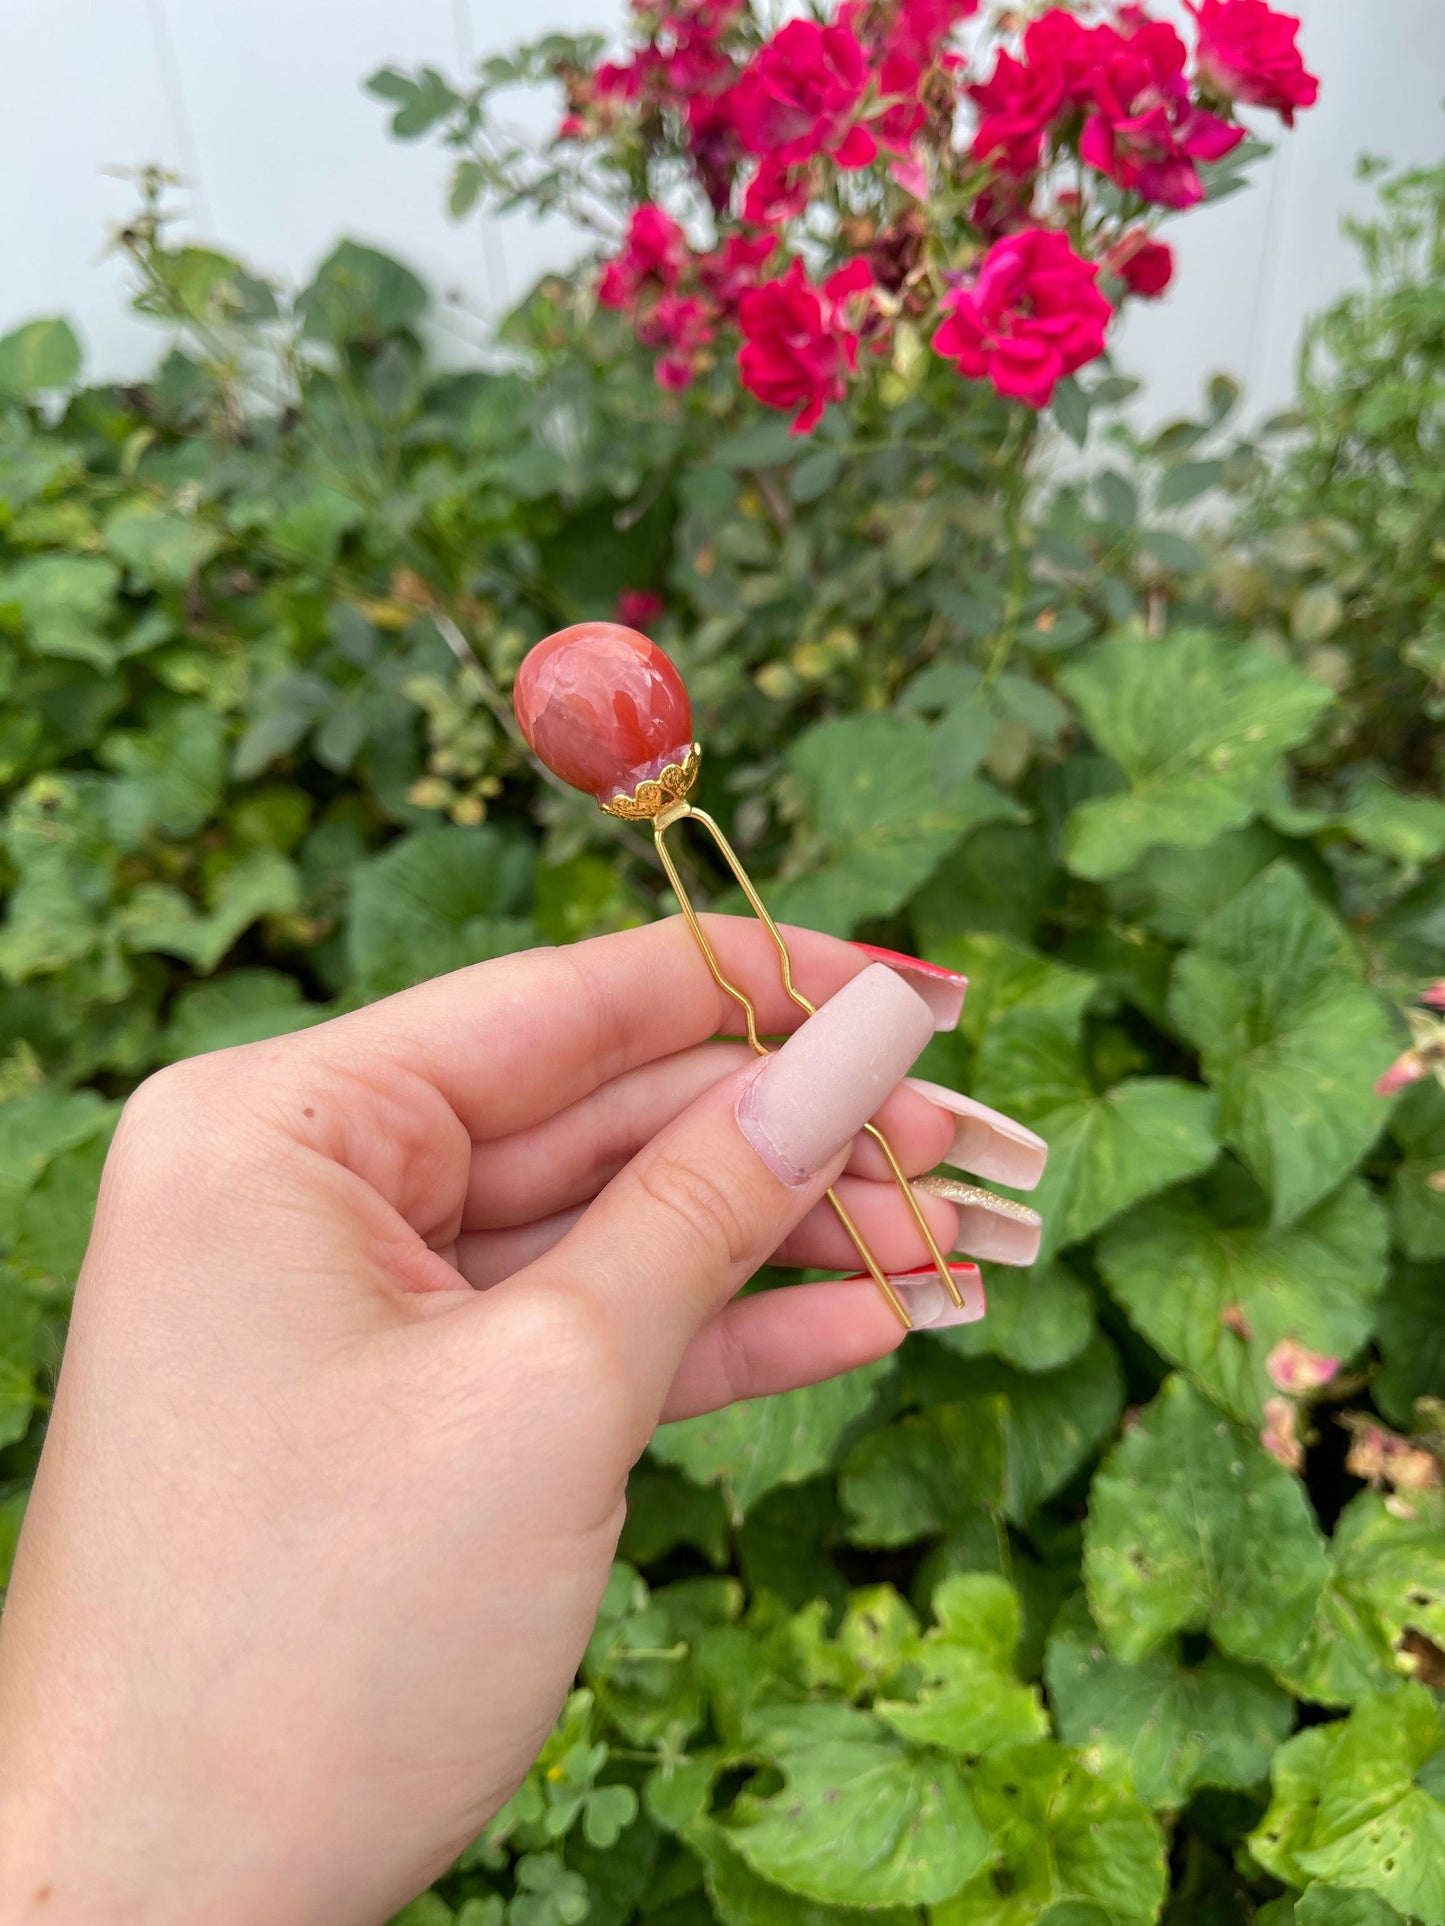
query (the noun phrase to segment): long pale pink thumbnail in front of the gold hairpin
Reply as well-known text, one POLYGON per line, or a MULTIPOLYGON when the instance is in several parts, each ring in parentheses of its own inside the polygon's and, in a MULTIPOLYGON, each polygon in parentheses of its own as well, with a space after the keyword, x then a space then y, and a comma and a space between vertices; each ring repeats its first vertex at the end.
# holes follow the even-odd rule
POLYGON ((738 1129, 796 1188, 850 1144, 933 1034, 902 976, 871 965, 759 1065, 738 1094, 738 1129))

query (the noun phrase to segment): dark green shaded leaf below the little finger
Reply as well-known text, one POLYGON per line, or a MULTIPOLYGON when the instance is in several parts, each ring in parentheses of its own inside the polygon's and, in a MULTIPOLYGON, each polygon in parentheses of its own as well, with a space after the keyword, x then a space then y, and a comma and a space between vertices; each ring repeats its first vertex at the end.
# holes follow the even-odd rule
POLYGON ((967 1398, 869 1431, 838 1481, 852 1537, 894 1547, 952 1531, 1004 1502, 1004 1404, 967 1398))

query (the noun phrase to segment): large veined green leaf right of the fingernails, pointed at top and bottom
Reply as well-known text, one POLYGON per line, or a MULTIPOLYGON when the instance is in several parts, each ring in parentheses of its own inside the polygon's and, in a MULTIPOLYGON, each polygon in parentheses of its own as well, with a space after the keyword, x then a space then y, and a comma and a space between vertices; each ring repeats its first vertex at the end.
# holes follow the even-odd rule
POLYGON ((1275 863, 1179 959, 1169 1011, 1220 1096, 1220 1134, 1270 1192, 1274 1223, 1291 1223, 1385 1119, 1374 1082, 1397 1038, 1345 930, 1275 863))

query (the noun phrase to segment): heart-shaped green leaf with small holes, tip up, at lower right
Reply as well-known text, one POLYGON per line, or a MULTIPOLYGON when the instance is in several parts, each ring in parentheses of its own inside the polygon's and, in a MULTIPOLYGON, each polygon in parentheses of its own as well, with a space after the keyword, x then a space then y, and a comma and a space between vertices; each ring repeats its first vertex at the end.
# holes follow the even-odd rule
POLYGON ((1285 1666, 1308 1637, 1326 1549, 1302 1487, 1185 1377, 1094 1477, 1085 1587, 1110 1651, 1137 1664, 1175 1631, 1285 1666))

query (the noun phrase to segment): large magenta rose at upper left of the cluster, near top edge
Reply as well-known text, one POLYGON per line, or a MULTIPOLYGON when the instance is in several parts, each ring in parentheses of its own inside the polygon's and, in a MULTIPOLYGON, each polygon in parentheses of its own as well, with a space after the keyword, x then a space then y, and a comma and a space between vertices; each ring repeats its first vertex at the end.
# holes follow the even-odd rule
POLYGON ((744 67, 732 117, 749 154, 798 168, 830 154, 840 168, 865 168, 873 135, 855 123, 867 60, 848 27, 792 19, 744 67))

